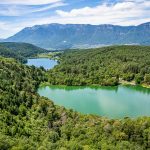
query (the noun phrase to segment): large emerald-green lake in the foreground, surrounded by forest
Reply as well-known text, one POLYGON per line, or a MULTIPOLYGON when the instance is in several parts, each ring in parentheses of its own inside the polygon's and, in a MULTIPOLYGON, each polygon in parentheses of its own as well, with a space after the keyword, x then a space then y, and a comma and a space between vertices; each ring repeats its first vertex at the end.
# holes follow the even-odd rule
POLYGON ((150 116, 150 89, 140 86, 43 86, 38 93, 57 105, 84 114, 108 118, 150 116))

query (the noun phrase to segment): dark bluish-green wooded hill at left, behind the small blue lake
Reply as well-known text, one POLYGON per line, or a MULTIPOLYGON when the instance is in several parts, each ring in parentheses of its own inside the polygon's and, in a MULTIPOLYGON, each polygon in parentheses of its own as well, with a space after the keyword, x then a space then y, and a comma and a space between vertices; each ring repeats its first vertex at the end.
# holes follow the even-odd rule
POLYGON ((0 43, 0 55, 4 57, 12 57, 20 62, 26 62, 28 57, 37 56, 37 54, 45 53, 47 50, 28 43, 3 42, 0 43))

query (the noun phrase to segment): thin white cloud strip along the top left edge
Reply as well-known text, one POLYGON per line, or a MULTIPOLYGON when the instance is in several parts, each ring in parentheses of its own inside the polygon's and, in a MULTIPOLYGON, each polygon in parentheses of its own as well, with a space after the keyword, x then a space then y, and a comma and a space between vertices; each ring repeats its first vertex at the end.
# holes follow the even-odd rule
POLYGON ((43 5, 61 2, 62 0, 1 0, 0 4, 43 5))

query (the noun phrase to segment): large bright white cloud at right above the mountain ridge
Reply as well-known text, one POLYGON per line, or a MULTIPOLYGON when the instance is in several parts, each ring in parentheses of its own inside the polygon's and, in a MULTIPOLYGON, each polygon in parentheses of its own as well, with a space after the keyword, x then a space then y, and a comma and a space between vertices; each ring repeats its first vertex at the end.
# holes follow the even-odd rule
POLYGON ((57 10, 56 13, 64 20, 72 20, 72 23, 113 23, 131 25, 139 24, 141 20, 150 21, 150 1, 130 0, 113 5, 102 4, 96 7, 84 7, 71 11, 57 10), (132 19, 132 21, 131 21, 132 19))

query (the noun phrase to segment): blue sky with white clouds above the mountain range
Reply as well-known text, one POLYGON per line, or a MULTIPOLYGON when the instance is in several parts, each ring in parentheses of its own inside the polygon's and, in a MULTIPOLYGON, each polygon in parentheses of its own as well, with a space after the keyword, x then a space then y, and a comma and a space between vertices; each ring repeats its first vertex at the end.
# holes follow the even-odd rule
POLYGON ((50 23, 128 26, 145 22, 150 22, 150 0, 0 0, 0 38, 50 23))

